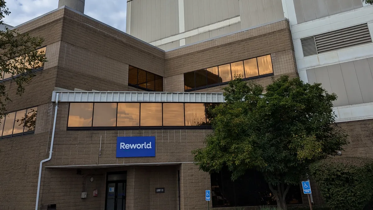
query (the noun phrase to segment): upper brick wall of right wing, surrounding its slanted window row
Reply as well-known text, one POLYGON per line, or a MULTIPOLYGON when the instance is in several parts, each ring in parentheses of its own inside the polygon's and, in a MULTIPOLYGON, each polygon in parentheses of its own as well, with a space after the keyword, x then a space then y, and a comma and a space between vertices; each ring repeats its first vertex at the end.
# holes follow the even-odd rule
MULTIPOLYGON (((165 90, 183 92, 186 72, 268 54, 272 57, 275 77, 282 74, 296 77, 297 67, 288 24, 286 20, 279 21, 166 52, 165 90)), ((266 86, 272 82, 272 78, 253 81, 266 86)), ((221 92, 222 87, 198 92, 221 92)))

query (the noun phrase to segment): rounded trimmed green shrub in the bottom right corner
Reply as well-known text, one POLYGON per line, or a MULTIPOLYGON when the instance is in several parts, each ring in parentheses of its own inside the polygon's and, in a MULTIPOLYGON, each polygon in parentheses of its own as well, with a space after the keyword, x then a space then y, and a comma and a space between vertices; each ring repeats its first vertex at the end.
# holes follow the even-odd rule
POLYGON ((373 159, 328 158, 310 170, 331 210, 362 210, 373 198, 373 159))

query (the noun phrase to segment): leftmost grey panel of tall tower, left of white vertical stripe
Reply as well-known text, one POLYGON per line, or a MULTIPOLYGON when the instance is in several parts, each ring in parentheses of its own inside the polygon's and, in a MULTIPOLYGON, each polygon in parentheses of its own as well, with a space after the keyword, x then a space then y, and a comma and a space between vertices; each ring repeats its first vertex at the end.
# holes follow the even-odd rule
POLYGON ((127 1, 126 32, 146 42, 179 33, 179 0, 127 1))

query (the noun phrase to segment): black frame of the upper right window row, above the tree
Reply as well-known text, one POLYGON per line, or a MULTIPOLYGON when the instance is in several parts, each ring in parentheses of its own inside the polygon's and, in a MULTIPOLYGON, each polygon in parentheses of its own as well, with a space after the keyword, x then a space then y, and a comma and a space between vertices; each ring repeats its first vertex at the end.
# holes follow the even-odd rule
MULTIPOLYGON (((207 68, 202 68, 202 69, 199 69, 199 70, 194 70, 194 71, 189 71, 189 72, 185 72, 184 74, 186 73, 190 73, 190 72, 194 72, 194 88, 191 88, 191 89, 187 89, 185 90, 185 80, 184 80, 184 92, 191 92, 191 91, 194 91, 194 90, 201 90, 201 89, 206 89, 206 88, 210 88, 210 87, 217 87, 217 86, 223 86, 223 85, 226 85, 229 83, 229 81, 227 82, 219 82, 219 83, 215 83, 215 84, 210 84, 209 85, 209 80, 208 80, 208 76, 207 76, 207 69, 208 68, 214 68, 214 67, 217 67, 217 72, 218 72, 218 78, 220 78, 220 71, 219 71, 219 66, 222 66, 222 65, 227 65, 229 64, 230 68, 231 68, 231 78, 232 80, 234 79, 234 76, 232 75, 232 66, 231 64, 232 63, 236 63, 236 62, 241 62, 242 61, 242 64, 244 65, 244 78, 242 78, 242 81, 247 81, 247 80, 253 80, 253 79, 257 79, 257 78, 263 78, 263 77, 269 77, 269 76, 273 76, 274 73, 273 73, 273 61, 272 61, 272 56, 271 56, 271 64, 272 64, 272 73, 269 73, 269 74, 263 74, 263 75, 260 75, 260 72, 259 72, 259 65, 258 65, 258 58, 260 57, 263 57, 263 56, 271 56, 271 54, 266 54, 266 55, 262 55, 262 56, 257 56, 257 57, 253 57, 253 58, 247 58, 247 59, 243 59, 243 60, 240 60, 240 61, 234 61, 234 62, 229 62, 229 63, 226 63, 226 64, 220 64, 220 65, 215 65, 215 66, 212 66, 212 67, 207 67, 207 68), (246 78, 246 72, 245 72, 245 64, 244 64, 244 61, 246 60, 249 60, 249 59, 256 59, 256 64, 257 64, 257 70, 258 70, 258 76, 254 76, 254 77, 248 77, 246 78), (206 86, 201 86, 201 87, 195 87, 196 86, 196 76, 195 76, 195 72, 197 71, 200 71, 200 70, 205 70, 206 71, 206 86)), ((183 74, 183 76, 184 76, 183 74)), ((232 81, 231 80, 231 81, 232 81)))

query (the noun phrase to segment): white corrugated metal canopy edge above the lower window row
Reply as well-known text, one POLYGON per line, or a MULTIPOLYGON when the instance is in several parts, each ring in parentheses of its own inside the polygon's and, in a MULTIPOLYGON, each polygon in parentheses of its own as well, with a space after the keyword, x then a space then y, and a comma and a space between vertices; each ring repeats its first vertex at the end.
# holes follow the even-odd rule
POLYGON ((52 102, 225 102, 223 93, 53 91, 52 102))

